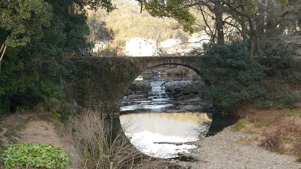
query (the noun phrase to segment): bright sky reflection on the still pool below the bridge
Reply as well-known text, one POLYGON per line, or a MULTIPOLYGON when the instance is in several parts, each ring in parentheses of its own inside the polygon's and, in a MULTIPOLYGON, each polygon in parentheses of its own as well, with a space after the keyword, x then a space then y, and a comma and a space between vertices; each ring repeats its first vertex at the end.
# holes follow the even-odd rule
POLYGON ((196 145, 158 144, 154 142, 188 142, 208 131, 212 114, 207 113, 139 113, 120 116, 125 134, 139 150, 156 157, 170 158, 189 152, 196 145))

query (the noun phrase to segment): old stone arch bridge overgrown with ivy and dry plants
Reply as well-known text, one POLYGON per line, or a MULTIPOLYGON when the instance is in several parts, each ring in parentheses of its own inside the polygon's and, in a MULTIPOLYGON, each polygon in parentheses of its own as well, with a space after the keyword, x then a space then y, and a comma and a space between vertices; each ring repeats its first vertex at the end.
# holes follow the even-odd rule
POLYGON ((196 56, 173 57, 76 57, 73 76, 67 77, 67 98, 83 108, 119 115, 124 93, 144 70, 161 65, 182 65, 200 75, 196 56))

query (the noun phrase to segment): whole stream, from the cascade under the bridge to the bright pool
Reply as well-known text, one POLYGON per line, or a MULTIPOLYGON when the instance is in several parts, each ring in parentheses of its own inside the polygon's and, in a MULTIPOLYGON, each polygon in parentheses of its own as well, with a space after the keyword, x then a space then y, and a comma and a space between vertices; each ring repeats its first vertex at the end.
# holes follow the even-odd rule
MULTIPOLYGON (((204 105, 198 96, 174 98, 166 90, 166 80, 146 77, 152 86, 147 97, 120 107, 120 122, 125 135, 144 154, 160 158, 179 157, 197 147, 194 141, 236 122, 235 118, 217 116, 206 110, 190 110, 189 107, 204 105)), ((178 77, 169 83, 191 82, 187 77, 178 77)))

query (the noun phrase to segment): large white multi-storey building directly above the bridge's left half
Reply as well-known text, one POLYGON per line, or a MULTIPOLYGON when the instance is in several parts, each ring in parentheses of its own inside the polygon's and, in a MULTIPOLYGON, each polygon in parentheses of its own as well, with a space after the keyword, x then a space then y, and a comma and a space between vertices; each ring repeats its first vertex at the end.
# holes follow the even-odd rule
POLYGON ((158 56, 157 42, 151 39, 133 38, 126 41, 126 56, 158 56))

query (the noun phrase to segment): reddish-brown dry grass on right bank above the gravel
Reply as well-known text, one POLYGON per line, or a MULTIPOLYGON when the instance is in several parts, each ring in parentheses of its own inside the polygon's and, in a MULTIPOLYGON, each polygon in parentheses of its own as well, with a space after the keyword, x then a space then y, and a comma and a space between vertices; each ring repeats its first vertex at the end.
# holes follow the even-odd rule
POLYGON ((263 110, 249 113, 231 128, 251 133, 261 146, 290 154, 301 162, 301 110, 263 110))

